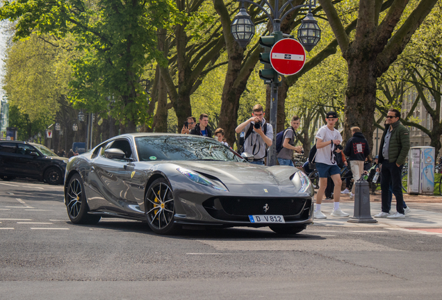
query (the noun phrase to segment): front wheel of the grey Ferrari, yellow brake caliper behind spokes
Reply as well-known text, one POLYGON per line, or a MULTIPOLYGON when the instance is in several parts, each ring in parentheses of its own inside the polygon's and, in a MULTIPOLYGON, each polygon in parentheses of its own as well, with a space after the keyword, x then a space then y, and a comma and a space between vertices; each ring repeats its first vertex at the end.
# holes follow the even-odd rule
POLYGON ((175 206, 170 183, 165 178, 158 178, 149 186, 145 196, 147 224, 152 231, 161 235, 177 233, 180 226, 174 223, 174 214, 175 206))

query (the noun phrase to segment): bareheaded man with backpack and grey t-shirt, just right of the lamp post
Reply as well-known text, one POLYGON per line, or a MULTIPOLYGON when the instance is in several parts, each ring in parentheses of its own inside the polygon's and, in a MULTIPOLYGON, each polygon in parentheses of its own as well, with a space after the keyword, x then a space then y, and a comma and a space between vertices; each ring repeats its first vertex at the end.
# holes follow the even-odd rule
POLYGON ((295 167, 293 165, 293 151, 300 153, 302 147, 295 147, 296 130, 300 127, 300 117, 294 115, 292 121, 290 122, 290 127, 286 130, 281 131, 277 134, 277 159, 279 165, 288 165, 295 167))

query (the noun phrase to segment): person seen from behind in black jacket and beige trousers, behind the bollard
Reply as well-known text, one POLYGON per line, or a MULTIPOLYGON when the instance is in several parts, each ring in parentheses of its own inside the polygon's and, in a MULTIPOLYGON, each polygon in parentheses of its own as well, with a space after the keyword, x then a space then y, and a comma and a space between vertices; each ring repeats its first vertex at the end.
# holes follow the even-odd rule
MULTIPOLYGON (((370 146, 366 138, 361 133, 361 129, 357 126, 350 128, 353 137, 345 144, 344 154, 349 156, 350 168, 352 169, 353 179, 356 182, 363 173, 363 163, 366 160, 366 156, 370 154, 370 146)), ((350 192, 350 199, 354 197, 354 189, 356 185, 353 185, 352 192, 350 192)))

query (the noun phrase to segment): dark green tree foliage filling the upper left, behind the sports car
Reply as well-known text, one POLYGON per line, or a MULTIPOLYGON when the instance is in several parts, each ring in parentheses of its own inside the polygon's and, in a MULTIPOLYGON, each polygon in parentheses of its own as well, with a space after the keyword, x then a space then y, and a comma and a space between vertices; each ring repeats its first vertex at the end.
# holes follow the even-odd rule
MULTIPOLYGON (((174 19, 169 0, 156 1, 14 1, 0 9, 2 19, 17 22, 16 37, 72 34, 81 56, 72 60, 70 98, 77 108, 107 112, 125 131, 147 118, 143 70, 154 58, 156 29, 174 19), (108 106, 113 96, 115 105, 108 106)), ((161 61, 161 60, 160 60, 161 61)))

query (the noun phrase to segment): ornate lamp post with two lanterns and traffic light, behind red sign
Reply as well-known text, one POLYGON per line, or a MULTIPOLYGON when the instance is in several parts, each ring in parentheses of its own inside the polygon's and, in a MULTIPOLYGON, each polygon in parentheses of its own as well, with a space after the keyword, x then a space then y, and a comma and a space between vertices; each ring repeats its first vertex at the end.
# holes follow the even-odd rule
POLYGON ((276 165, 276 127, 277 127, 277 106, 278 106, 278 86, 281 85, 281 74, 277 73, 272 66, 268 64, 268 55, 266 53, 270 52, 270 48, 273 44, 281 40, 282 38, 288 38, 288 35, 285 35, 281 32, 281 19, 284 19, 290 12, 302 7, 308 7, 309 13, 306 15, 306 18, 302 20, 302 24, 298 29, 297 38, 306 49, 306 51, 311 51, 313 47, 318 44, 320 40, 320 28, 318 26, 318 22, 314 19, 313 14, 311 13, 311 8, 316 6, 316 0, 309 0, 309 4, 293 6, 292 2, 295 0, 288 0, 284 3, 281 8, 279 8, 279 0, 275 0, 275 8, 270 4, 268 0, 262 0, 260 3, 255 3, 252 0, 237 0, 241 2, 242 7, 240 8, 240 12, 234 17, 234 21, 231 24, 231 33, 234 35, 234 39, 238 44, 245 48, 247 44, 252 40, 254 35, 254 24, 247 14, 247 11, 244 8, 244 3, 250 3, 254 6, 257 6, 261 9, 265 15, 267 15, 270 22, 272 22, 273 33, 272 37, 261 37, 260 44, 261 47, 265 47, 265 53, 261 53, 260 60, 261 63, 265 63, 265 69, 261 70, 260 77, 264 80, 265 84, 270 84, 271 90, 271 101, 270 101, 270 124, 273 127, 273 143, 272 147, 270 147, 270 153, 267 160, 267 165, 272 166, 276 165), (313 2, 313 3, 312 3, 313 2), (263 6, 267 6, 268 9, 265 9, 263 6), (290 6, 289 9, 288 6, 290 6), (287 9, 287 10, 286 10, 287 9), (268 11, 270 10, 270 12, 268 11), (284 10, 286 10, 284 12, 284 10), (270 43, 266 44, 266 41, 271 40, 270 43), (261 59, 261 57, 263 59, 261 59), (262 73, 262 76, 261 76, 262 73))

